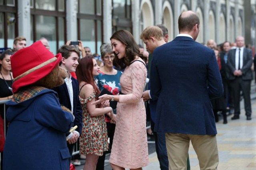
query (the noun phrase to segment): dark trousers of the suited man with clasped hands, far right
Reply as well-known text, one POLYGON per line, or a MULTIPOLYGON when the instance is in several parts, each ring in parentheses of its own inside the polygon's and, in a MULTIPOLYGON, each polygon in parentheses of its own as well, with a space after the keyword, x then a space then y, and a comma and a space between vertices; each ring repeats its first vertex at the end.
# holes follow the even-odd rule
POLYGON ((241 77, 235 78, 235 80, 230 81, 230 87, 234 97, 234 115, 240 115, 240 91, 242 90, 244 96, 244 109, 247 116, 252 114, 251 107, 251 80, 242 80, 241 77))

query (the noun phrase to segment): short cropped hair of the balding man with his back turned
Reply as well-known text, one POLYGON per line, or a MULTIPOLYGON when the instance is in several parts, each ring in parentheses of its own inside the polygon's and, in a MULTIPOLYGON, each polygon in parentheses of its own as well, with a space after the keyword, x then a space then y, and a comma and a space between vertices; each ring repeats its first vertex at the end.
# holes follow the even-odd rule
POLYGON ((178 19, 179 31, 191 31, 195 24, 198 24, 199 28, 200 20, 195 13, 186 17, 183 17, 182 14, 180 14, 178 19))

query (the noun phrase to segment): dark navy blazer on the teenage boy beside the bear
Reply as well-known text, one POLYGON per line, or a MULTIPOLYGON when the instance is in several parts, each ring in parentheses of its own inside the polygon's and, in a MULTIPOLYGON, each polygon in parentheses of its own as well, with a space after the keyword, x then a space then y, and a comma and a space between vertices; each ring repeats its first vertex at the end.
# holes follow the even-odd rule
MULTIPOLYGON (((81 135, 83 113, 82 113, 82 106, 79 99, 79 85, 78 85, 78 81, 74 77, 71 77, 71 80, 72 80, 72 87, 73 87, 73 105, 74 105, 73 114, 75 117, 74 126, 75 125, 78 126, 76 131, 78 131, 81 135)), ((60 104, 71 110, 71 103, 70 103, 66 82, 64 82, 64 84, 58 87, 54 87, 52 90, 58 93, 60 104)))

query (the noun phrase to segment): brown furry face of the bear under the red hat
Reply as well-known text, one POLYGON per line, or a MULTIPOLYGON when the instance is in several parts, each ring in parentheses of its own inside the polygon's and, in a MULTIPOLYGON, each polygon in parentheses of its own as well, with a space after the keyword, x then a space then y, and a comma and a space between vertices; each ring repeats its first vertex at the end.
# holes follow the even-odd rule
POLYGON ((44 78, 41 78, 33 85, 35 86, 43 86, 48 89, 52 89, 54 87, 60 86, 64 84, 65 78, 67 77, 67 72, 64 68, 61 68, 58 64, 57 66, 44 78))

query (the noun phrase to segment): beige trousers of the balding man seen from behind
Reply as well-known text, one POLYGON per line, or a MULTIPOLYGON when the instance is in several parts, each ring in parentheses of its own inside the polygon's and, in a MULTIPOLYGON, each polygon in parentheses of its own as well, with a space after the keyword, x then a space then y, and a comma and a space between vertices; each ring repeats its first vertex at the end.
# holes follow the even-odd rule
POLYGON ((200 170, 217 170, 219 156, 216 135, 166 133, 165 136, 169 170, 187 169, 190 140, 197 154, 200 170))

